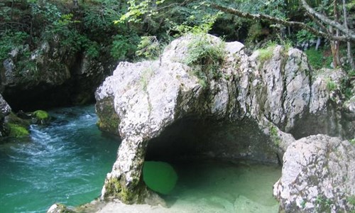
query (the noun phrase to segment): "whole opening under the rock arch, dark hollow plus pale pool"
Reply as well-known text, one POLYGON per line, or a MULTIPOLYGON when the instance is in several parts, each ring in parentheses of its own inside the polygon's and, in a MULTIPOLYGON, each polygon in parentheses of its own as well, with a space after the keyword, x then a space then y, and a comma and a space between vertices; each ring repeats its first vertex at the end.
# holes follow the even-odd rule
POLYGON ((148 141, 146 161, 170 163, 175 188, 168 207, 192 212, 278 212, 272 186, 281 168, 270 138, 255 121, 224 122, 190 116, 148 141))

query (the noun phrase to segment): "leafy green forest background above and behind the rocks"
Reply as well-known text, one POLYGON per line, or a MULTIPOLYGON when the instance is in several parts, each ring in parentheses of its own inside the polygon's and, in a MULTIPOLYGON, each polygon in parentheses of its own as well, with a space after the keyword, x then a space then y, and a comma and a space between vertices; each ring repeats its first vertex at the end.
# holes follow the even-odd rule
POLYGON ((354 80, 354 26, 355 0, 3 0, 0 61, 15 51, 16 72, 35 75, 34 54, 45 41, 59 44, 63 58, 105 58, 111 72, 119 61, 157 58, 174 38, 204 31, 250 52, 297 47, 315 70, 342 67, 354 80))

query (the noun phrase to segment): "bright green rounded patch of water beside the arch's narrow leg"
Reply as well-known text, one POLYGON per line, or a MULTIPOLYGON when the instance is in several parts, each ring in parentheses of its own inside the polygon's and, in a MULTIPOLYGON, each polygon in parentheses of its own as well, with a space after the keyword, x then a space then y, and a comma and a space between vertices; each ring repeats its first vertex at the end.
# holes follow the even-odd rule
POLYGON ((143 164, 143 181, 153 191, 168 195, 178 180, 174 168, 165 162, 145 161, 143 164))

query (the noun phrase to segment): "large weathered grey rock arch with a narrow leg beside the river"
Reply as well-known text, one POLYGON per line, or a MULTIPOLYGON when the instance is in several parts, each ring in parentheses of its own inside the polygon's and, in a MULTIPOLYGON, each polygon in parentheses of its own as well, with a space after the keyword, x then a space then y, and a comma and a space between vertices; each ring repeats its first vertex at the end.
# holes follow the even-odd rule
MULTIPOLYGON (((174 40, 165 48, 161 64, 121 62, 97 89, 102 128, 108 126, 111 132, 117 128, 113 132, 122 138, 102 198, 145 202, 149 193, 141 179, 143 161, 166 157, 149 151, 154 144, 160 153, 173 147, 167 153, 175 151, 177 157, 191 151, 207 158, 277 162, 277 156, 282 158, 295 141, 288 132, 304 126, 304 119, 317 125, 311 118, 327 116, 334 108, 327 89, 313 81, 305 54, 281 46, 275 47, 271 59, 260 60, 258 52, 249 57, 240 43, 226 43, 226 59, 218 70, 221 77, 209 79, 204 86, 193 74, 196 68, 184 64, 193 39, 174 40), (185 132, 190 134, 176 139, 185 132), (186 153, 176 146, 180 142, 193 148, 186 153)), ((222 42, 212 35, 209 40, 222 42)), ((319 81, 323 84, 324 79, 319 81)), ((328 119, 330 124, 337 123, 337 118, 328 119)), ((304 134, 310 133, 344 134, 339 128, 311 129, 304 134)))

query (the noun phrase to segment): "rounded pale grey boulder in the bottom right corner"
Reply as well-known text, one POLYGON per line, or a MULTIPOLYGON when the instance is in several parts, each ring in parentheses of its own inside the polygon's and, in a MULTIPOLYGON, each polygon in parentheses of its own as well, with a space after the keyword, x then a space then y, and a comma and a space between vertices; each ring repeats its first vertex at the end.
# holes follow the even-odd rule
POLYGON ((273 194, 285 212, 351 212, 355 196, 355 147, 324 135, 302 138, 283 155, 273 194))

